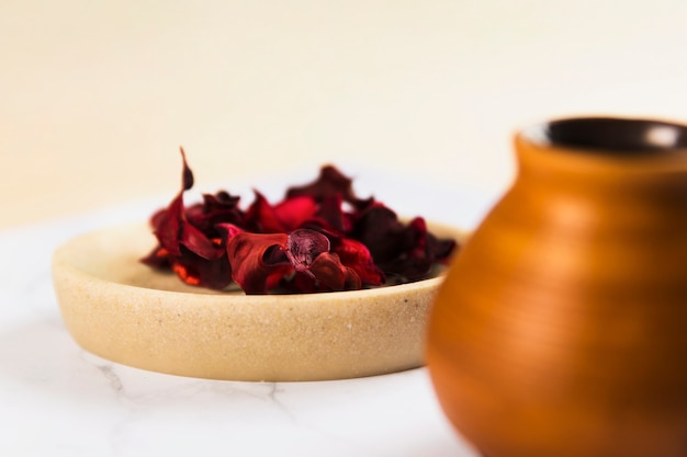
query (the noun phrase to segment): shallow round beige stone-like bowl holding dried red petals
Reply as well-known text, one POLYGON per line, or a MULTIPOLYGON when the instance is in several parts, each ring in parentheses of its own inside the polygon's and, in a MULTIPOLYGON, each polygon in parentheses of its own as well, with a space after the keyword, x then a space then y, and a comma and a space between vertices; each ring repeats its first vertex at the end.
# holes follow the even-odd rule
POLYGON ((154 372, 232 380, 351 378, 424 363, 428 307, 441 277, 326 294, 217 293, 138 262, 155 243, 142 224, 87 233, 55 252, 61 315, 87 351, 154 372))

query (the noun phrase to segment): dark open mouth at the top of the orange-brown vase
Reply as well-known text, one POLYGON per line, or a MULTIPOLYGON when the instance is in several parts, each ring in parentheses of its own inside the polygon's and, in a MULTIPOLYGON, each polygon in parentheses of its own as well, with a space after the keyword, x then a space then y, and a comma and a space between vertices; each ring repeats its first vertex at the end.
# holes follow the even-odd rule
POLYGON ((687 126, 663 121, 581 117, 526 130, 536 144, 605 153, 650 153, 687 148, 687 126))

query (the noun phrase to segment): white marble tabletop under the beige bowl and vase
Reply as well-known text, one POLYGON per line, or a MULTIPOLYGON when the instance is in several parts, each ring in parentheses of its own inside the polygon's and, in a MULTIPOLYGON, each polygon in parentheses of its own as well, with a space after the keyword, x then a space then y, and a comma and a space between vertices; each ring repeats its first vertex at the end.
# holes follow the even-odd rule
MULTIPOLYGON (((393 180, 381 187, 404 202, 398 210, 465 228, 493 201, 435 188, 440 197, 428 202, 418 185, 393 180)), ((327 382, 213 381, 129 368, 78 347, 55 301, 52 251, 85 230, 140 220, 161 203, 0 230, 0 455, 475 456, 441 413, 426 368, 327 382)))

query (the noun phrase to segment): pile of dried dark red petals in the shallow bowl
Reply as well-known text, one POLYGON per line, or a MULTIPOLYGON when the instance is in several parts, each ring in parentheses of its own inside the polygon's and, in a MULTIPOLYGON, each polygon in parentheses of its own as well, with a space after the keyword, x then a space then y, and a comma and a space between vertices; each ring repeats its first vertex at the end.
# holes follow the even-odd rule
POLYGON ((373 197, 358 198, 331 165, 275 205, 255 191, 243 210, 238 196, 219 191, 184 207, 193 173, 183 149, 181 157, 182 188, 150 218, 158 245, 142 261, 187 284, 225 289, 234 282, 246 294, 360 289, 421 279, 457 245, 428 232, 420 217, 404 225, 373 197))

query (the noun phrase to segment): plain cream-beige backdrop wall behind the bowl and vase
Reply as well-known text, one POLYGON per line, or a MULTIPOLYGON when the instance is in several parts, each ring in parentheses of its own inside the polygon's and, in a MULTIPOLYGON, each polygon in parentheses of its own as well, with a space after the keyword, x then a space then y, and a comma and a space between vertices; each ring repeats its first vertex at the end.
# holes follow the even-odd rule
POLYGON ((686 49, 677 0, 5 0, 0 227, 171 195, 180 145, 226 187, 335 162, 502 188, 532 121, 687 121, 686 49))

